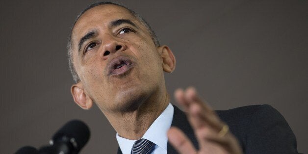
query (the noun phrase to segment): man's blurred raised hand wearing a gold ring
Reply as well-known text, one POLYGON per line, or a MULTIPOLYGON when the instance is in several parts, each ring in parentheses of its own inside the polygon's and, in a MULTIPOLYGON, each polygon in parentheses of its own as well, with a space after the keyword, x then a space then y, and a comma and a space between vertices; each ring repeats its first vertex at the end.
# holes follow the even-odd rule
POLYGON ((199 143, 199 151, 179 129, 168 131, 168 140, 180 154, 242 154, 237 139, 217 114, 202 101, 193 87, 175 91, 175 98, 187 112, 199 143))

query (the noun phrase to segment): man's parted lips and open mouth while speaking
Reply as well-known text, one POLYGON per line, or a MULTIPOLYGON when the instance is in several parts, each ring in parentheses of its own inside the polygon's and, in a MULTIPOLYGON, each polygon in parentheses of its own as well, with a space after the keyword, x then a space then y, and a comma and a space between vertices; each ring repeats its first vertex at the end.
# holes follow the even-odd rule
POLYGON ((130 70, 131 66, 132 61, 128 57, 116 57, 108 65, 108 76, 124 74, 130 70))

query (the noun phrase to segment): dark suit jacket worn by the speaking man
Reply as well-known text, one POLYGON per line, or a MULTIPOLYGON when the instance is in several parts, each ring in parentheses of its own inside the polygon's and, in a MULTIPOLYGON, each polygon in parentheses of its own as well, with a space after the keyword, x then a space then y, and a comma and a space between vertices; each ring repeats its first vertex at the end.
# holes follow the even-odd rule
MULTIPOLYGON (((228 124, 244 154, 298 154, 293 131, 272 106, 251 105, 216 113, 228 124)), ((197 139, 185 113, 176 106, 171 125, 183 130, 198 149, 197 139)), ((120 148, 118 154, 122 154, 120 148)), ((178 154, 169 142, 167 154, 178 154)))

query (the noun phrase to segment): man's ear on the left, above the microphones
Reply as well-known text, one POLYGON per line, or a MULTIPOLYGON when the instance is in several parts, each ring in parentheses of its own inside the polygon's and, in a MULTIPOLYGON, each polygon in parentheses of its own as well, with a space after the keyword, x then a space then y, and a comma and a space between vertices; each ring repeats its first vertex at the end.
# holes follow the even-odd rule
POLYGON ((71 87, 71 93, 75 103, 82 109, 90 109, 93 105, 92 99, 84 92, 83 84, 79 81, 71 87))

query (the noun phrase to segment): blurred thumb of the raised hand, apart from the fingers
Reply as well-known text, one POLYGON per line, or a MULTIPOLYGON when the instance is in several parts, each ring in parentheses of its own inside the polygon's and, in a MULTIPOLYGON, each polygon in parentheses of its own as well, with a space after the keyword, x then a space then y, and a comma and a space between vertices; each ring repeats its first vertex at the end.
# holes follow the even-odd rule
POLYGON ((196 149, 179 128, 171 127, 167 135, 169 142, 180 154, 196 154, 196 149))

